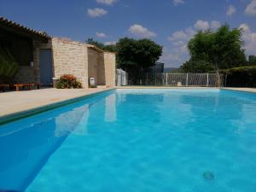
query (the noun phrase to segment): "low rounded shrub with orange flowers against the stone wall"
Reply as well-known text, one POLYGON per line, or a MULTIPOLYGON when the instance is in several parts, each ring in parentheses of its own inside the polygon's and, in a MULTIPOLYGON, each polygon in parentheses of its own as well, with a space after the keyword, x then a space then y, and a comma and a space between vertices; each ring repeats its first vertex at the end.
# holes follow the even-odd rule
POLYGON ((57 89, 79 89, 82 84, 72 75, 64 74, 57 82, 57 89))

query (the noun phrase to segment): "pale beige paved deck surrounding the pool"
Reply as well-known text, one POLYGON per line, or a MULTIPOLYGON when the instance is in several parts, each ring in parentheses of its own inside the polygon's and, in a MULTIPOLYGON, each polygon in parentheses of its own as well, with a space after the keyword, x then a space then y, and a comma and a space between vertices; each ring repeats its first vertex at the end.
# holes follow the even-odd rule
MULTIPOLYGON (((125 86, 117 87, 122 89, 208 89, 206 87, 160 87, 160 86, 125 86)), ((112 88, 113 89, 113 88, 112 88)), ((238 90, 256 93, 253 88, 222 88, 224 90, 238 90)), ((95 88, 95 89, 71 89, 57 90, 55 88, 41 90, 24 90, 0 92, 0 124, 9 119, 18 119, 17 116, 26 116, 27 113, 37 113, 40 110, 53 108, 58 103, 61 105, 64 102, 73 99, 90 96, 110 88, 95 88), (16 118, 15 118, 16 116, 16 118)))

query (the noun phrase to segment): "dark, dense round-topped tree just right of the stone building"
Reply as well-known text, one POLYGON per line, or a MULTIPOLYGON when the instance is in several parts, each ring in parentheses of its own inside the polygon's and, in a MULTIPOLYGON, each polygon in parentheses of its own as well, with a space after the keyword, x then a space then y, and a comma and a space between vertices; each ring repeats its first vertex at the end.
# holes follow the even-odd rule
POLYGON ((118 67, 129 73, 133 81, 148 67, 154 66, 162 55, 162 46, 149 39, 121 38, 117 43, 118 67))

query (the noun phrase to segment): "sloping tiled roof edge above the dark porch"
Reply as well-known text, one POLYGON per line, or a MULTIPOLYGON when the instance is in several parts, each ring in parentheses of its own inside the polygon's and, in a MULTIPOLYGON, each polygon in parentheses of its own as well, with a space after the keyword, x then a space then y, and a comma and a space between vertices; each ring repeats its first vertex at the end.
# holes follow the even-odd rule
POLYGON ((1 28, 9 32, 26 36, 27 38, 35 38, 43 41, 48 41, 50 39, 46 32, 38 32, 32 28, 22 26, 19 23, 15 23, 14 21, 8 20, 4 17, 0 17, 0 29, 1 28))

